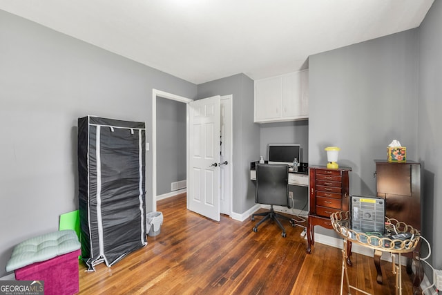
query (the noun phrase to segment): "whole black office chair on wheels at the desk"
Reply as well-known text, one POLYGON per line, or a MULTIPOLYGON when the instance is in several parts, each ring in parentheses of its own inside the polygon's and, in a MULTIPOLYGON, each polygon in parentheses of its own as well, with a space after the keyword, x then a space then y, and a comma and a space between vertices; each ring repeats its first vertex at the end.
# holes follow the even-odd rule
MULTIPOLYGON (((280 219, 291 220, 287 216, 275 213, 273 205, 289 207, 289 166, 282 164, 258 164, 256 166, 256 194, 255 202, 258 204, 269 204, 270 211, 252 214, 251 220, 255 220, 255 216, 265 216, 258 222, 253 231, 258 231, 258 226, 265 220, 275 220, 280 229, 282 229, 282 237, 285 238, 285 228, 282 226, 280 219)), ((292 226, 294 226, 292 224, 292 226)))

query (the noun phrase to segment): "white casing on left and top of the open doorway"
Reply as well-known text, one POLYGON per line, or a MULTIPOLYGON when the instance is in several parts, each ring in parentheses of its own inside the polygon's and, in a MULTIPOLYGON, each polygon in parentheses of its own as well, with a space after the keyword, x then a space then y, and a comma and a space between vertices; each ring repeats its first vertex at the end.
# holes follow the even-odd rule
MULTIPOLYGON (((152 211, 157 211, 157 98, 162 97, 166 99, 172 99, 177 102, 184 102, 188 104, 193 99, 167 93, 164 91, 152 89, 152 211)), ((189 120, 189 118, 187 118, 189 120)), ((189 142, 186 143, 186 150, 189 148, 189 142)), ((186 171, 188 167, 186 167, 186 171)))

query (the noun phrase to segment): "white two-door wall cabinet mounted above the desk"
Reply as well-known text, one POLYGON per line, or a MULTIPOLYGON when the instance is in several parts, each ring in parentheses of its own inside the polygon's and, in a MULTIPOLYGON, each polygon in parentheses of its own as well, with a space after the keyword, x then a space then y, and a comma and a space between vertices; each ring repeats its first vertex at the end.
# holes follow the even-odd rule
POLYGON ((255 122, 306 120, 309 117, 309 72, 255 81, 255 122))

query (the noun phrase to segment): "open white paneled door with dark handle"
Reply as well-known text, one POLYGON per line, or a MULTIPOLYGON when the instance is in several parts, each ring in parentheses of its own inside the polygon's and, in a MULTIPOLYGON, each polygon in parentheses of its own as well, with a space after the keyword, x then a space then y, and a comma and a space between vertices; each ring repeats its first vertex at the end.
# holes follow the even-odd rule
POLYGON ((189 210, 220 221, 220 96, 189 103, 189 210))

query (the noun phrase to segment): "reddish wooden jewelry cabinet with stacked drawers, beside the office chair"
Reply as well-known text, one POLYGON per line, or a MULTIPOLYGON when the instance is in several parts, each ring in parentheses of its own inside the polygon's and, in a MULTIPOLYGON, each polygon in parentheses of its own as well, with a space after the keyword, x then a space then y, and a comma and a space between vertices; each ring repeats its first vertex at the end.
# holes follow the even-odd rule
POLYGON ((311 245, 314 244, 314 227, 319 225, 333 229, 330 215, 336 211, 349 209, 349 171, 352 171, 349 167, 338 169, 327 169, 326 166, 309 167, 308 254, 311 253, 311 245))

